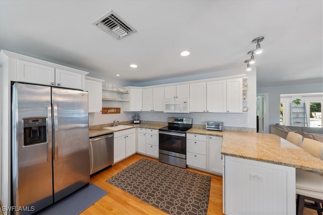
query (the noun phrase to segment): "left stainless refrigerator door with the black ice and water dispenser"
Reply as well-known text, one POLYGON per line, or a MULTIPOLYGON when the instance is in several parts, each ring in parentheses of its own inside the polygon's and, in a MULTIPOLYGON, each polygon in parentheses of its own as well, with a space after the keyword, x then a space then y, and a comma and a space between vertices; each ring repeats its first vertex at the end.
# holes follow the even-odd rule
POLYGON ((12 102, 13 205, 36 212, 53 201, 50 87, 16 83, 12 102))

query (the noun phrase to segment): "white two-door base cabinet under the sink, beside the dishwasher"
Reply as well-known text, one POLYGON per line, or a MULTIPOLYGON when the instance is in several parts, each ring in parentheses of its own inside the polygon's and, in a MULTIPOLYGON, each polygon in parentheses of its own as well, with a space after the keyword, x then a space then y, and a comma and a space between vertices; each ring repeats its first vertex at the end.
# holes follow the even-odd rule
POLYGON ((136 129, 114 132, 114 163, 136 153, 136 129))

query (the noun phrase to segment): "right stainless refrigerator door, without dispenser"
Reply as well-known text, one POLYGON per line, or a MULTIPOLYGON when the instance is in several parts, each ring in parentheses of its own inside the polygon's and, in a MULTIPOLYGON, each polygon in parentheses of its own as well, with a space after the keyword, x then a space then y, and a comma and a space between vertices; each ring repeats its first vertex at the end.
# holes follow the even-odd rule
POLYGON ((87 92, 52 88, 54 202, 90 182, 87 92))

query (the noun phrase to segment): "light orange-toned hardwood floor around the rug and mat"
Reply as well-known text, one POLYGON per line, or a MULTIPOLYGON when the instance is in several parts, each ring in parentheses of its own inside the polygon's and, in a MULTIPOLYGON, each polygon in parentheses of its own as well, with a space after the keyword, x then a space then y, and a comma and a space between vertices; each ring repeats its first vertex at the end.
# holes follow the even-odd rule
MULTIPOLYGON (((106 182, 107 179, 111 178, 118 172, 122 171, 126 167, 140 160, 141 158, 158 161, 150 157, 135 154, 115 165, 111 168, 104 170, 103 172, 91 177, 90 183, 93 183, 100 188, 109 192, 109 194, 103 196, 93 205, 84 210, 81 215, 86 214, 167 214, 150 204, 145 203, 137 197, 123 191, 106 182)), ((205 173, 202 171, 187 168, 187 171, 196 172, 202 175, 211 177, 211 187, 207 214, 223 214, 222 213, 222 177, 205 173)), ((316 214, 314 210, 305 208, 304 214, 316 214)))

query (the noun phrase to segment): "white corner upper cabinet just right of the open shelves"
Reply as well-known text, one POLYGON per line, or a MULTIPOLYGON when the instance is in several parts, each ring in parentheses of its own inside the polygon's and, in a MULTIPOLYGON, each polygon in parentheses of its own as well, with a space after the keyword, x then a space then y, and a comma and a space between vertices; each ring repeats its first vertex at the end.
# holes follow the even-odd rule
POLYGON ((129 102, 124 103, 124 111, 142 111, 142 89, 124 88, 128 90, 129 102))

